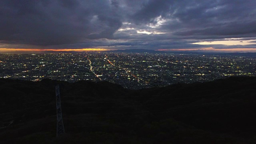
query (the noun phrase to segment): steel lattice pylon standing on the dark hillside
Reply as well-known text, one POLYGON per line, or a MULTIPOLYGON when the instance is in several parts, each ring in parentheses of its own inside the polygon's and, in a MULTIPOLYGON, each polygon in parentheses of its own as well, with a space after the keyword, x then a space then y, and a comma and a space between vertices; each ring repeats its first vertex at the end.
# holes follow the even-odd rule
POLYGON ((57 137, 59 134, 65 133, 63 119, 62 119, 62 112, 61 112, 61 105, 60 105, 60 86, 57 85, 55 87, 56 90, 56 106, 57 106, 57 137))

